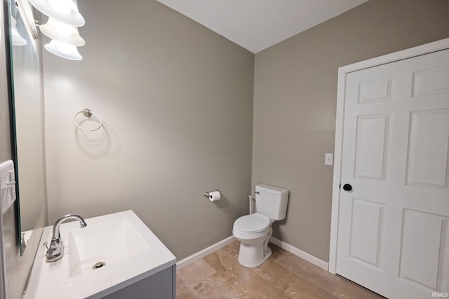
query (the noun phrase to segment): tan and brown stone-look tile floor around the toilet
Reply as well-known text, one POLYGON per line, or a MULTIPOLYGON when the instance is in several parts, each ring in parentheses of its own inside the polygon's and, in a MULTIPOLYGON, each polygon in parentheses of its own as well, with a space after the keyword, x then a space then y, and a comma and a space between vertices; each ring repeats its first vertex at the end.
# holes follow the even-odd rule
POLYGON ((274 244, 269 246, 272 256, 256 268, 239 264, 239 242, 233 242, 177 270, 176 298, 383 298, 274 244))

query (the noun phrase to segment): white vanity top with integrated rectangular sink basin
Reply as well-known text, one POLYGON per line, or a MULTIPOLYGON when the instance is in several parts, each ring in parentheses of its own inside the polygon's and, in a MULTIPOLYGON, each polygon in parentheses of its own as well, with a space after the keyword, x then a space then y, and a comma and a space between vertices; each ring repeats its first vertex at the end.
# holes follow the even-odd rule
MULTIPOLYGON (((133 211, 88 218, 86 223, 86 228, 78 221, 60 225, 60 260, 47 263, 46 248, 39 246, 24 298, 101 298, 176 263, 133 211)), ((42 243, 50 242, 52 230, 45 228, 42 243)))

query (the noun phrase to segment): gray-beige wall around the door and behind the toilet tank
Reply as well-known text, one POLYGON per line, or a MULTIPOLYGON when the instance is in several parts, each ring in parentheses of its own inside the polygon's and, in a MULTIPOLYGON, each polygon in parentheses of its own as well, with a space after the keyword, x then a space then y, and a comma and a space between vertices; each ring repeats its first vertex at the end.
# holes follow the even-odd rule
POLYGON ((290 189, 274 237, 328 260, 337 69, 449 36, 447 0, 371 0, 255 55, 253 186, 290 189))

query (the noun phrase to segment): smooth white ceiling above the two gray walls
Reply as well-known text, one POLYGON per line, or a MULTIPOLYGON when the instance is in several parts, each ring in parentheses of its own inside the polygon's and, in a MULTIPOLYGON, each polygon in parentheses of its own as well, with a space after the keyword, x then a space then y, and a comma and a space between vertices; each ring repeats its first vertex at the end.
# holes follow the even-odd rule
POLYGON ((157 0, 252 53, 368 0, 157 0))

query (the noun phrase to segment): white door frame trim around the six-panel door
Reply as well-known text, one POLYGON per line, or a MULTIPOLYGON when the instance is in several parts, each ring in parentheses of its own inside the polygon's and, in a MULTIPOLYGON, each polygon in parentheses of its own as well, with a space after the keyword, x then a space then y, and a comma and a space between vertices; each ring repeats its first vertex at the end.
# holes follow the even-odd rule
POLYGON ((342 146, 343 146, 343 120, 344 120, 344 95, 346 93, 347 74, 361 69, 377 67, 381 64, 406 60, 411 57, 425 55, 449 48, 449 38, 426 43, 422 46, 401 50, 395 53, 382 55, 370 60, 356 62, 338 68, 337 83, 337 114, 335 122, 335 150, 334 150, 334 174, 332 188, 332 212, 330 218, 330 250, 329 250, 329 272, 335 274, 337 270, 337 235, 338 218, 340 214, 340 176, 342 171, 342 146))

